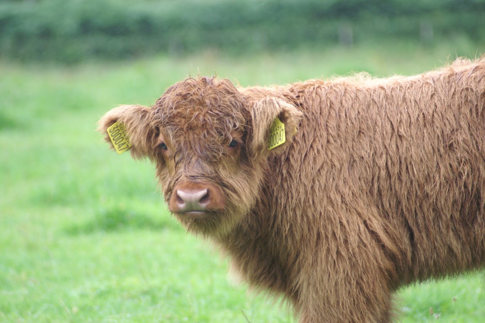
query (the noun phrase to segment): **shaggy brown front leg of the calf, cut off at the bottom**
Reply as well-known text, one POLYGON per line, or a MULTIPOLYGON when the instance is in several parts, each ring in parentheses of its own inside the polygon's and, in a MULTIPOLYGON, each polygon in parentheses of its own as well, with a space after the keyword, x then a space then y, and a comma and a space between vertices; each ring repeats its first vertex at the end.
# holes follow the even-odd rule
MULTIPOLYGON (((334 236, 335 237, 335 236, 334 236)), ((367 230, 321 244, 300 272, 300 323, 388 323, 394 265, 367 230)))

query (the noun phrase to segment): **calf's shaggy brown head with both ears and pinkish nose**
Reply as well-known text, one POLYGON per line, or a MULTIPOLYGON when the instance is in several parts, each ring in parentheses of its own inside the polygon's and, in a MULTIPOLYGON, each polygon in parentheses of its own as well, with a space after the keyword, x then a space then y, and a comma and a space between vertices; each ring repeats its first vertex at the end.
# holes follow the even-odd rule
POLYGON ((123 123, 132 155, 156 163, 172 214, 191 231, 224 234, 254 205, 265 161, 288 145, 300 117, 280 99, 253 100, 228 80, 199 78, 173 85, 153 107, 113 109, 100 130, 123 123), (287 141, 268 151, 276 118, 286 125, 287 141))

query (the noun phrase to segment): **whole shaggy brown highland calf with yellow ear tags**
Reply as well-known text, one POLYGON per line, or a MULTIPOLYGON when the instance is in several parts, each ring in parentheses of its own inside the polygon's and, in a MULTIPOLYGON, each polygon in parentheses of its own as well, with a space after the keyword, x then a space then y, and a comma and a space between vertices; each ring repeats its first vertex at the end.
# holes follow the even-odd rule
POLYGON ((484 268, 485 57, 389 79, 191 78, 100 131, 115 122, 178 221, 300 322, 389 322, 399 287, 484 268))

